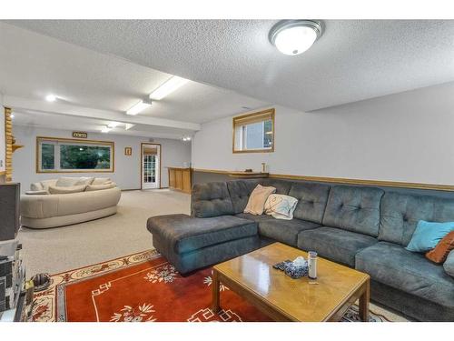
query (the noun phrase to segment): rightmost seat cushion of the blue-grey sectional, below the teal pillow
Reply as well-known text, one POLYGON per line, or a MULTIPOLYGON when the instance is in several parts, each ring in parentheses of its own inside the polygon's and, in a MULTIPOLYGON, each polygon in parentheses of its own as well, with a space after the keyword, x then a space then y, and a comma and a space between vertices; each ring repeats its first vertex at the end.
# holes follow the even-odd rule
POLYGON ((400 245, 380 242, 360 251, 356 268, 377 282, 454 308, 454 279, 443 266, 400 245))

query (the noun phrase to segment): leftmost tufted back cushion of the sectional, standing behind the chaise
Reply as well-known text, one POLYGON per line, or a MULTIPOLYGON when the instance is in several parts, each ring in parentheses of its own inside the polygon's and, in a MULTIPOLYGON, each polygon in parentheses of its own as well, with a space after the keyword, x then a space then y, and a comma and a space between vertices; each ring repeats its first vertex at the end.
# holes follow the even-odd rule
POLYGON ((216 182, 192 186, 191 214, 198 218, 233 215, 227 184, 216 182))

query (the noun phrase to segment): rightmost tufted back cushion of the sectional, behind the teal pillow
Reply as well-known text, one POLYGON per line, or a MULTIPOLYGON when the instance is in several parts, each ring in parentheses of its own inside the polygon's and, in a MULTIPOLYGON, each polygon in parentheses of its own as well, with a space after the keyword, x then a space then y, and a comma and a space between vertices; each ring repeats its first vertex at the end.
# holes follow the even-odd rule
POLYGON ((388 192, 380 207, 379 239, 408 246, 419 220, 454 221, 454 199, 388 192))

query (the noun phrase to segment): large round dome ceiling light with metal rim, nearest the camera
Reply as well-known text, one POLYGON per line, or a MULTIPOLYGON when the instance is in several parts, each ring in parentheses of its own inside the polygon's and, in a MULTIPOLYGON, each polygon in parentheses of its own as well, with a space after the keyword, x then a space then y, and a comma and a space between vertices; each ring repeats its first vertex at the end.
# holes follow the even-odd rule
POLYGON ((282 20, 268 35, 272 45, 284 55, 300 55, 323 33, 323 25, 315 20, 282 20))

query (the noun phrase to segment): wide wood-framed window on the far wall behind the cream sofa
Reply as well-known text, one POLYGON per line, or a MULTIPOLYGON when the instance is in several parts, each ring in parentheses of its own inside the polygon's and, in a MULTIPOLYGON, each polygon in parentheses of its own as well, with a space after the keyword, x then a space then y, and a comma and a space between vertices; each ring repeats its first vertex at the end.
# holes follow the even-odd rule
POLYGON ((114 142, 36 137, 36 173, 114 172, 114 142))

